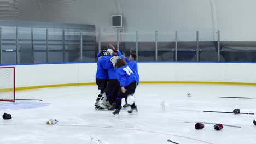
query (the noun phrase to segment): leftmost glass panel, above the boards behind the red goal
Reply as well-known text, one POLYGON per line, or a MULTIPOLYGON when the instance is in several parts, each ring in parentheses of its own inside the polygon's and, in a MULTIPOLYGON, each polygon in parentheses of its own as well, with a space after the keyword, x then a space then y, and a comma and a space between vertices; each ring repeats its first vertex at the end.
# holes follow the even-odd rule
POLYGON ((3 64, 16 63, 16 27, 2 27, 3 64))

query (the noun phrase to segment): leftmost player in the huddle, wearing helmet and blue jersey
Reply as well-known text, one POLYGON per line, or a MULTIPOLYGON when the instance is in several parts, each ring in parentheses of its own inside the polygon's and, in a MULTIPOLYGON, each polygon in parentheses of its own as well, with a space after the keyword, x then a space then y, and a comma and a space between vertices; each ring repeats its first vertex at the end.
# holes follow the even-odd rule
MULTIPOLYGON (((97 57, 100 59, 102 57, 109 56, 110 53, 107 50, 103 50, 100 52, 100 55, 97 55, 97 57)), ((106 88, 108 83, 108 73, 106 69, 103 69, 100 62, 97 62, 97 71, 96 71, 96 84, 98 85, 98 90, 100 90, 100 94, 98 94, 98 97, 95 101, 95 109, 103 109, 102 107, 98 106, 98 101, 101 99, 102 95, 104 95, 104 89, 106 88)))

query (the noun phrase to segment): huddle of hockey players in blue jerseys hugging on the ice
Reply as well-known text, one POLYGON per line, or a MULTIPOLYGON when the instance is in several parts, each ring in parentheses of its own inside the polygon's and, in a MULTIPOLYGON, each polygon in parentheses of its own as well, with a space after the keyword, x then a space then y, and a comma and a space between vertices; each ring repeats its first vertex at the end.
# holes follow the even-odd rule
POLYGON ((136 55, 131 53, 125 58, 120 51, 109 45, 112 49, 102 50, 97 54, 96 83, 100 94, 95 102, 96 110, 115 110, 119 115, 122 109, 122 98, 125 98, 124 109, 131 107, 128 113, 137 112, 135 104, 135 89, 139 83, 136 55))

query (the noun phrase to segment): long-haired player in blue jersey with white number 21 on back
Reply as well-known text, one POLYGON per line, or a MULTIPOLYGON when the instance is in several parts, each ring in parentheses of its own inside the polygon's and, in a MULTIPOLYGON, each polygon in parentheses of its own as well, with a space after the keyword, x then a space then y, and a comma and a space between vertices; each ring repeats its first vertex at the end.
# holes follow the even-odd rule
POLYGON ((119 58, 113 64, 116 69, 116 74, 118 77, 119 85, 119 94, 116 98, 116 109, 113 112, 114 115, 118 115, 121 110, 121 99, 125 98, 127 103, 131 106, 131 110, 128 113, 137 112, 137 106, 135 105, 135 97, 133 94, 135 93, 135 89, 137 86, 138 75, 135 70, 132 70, 126 62, 119 58))

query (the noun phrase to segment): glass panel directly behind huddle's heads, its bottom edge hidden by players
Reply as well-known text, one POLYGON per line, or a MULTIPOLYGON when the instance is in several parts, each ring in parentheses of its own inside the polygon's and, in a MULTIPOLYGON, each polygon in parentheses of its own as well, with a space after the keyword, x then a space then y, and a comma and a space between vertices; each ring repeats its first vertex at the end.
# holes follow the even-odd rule
POLYGON ((119 50, 125 57, 129 57, 131 53, 136 53, 136 32, 120 32, 119 33, 119 50))

